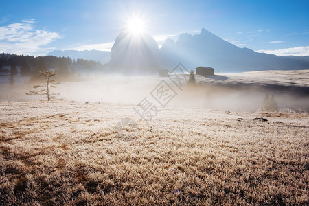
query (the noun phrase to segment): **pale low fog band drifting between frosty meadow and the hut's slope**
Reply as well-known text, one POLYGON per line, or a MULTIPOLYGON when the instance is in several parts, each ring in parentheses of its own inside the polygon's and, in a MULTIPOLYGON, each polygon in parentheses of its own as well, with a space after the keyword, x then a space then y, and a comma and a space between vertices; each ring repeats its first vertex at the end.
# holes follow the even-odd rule
MULTIPOLYGON (((222 75, 223 76, 223 75, 222 75)), ((29 78, 16 76, 10 84, 10 76, 0 76, 0 100, 3 101, 37 101, 38 95, 25 95, 34 90, 29 78)), ((224 111, 258 111, 266 95, 273 96, 278 109, 309 111, 308 87, 259 86, 257 84, 212 84, 211 80, 200 81, 197 78, 194 86, 182 84, 176 87, 168 77, 159 76, 122 76, 113 74, 91 74, 87 80, 80 82, 61 82, 58 88, 58 99, 76 102, 100 102, 113 104, 131 104, 135 106, 144 98, 160 110, 163 108, 150 94, 164 80, 174 90, 175 96, 165 107, 209 108, 224 111), (210 83, 209 83, 210 82, 210 83), (292 89, 291 89, 292 88, 292 89)))

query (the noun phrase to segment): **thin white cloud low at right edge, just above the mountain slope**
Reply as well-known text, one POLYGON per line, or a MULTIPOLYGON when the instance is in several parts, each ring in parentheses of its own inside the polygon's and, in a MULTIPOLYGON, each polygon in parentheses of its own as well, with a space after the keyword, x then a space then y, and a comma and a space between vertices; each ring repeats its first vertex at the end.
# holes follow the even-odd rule
POLYGON ((292 47, 286 49, 275 49, 275 50, 258 50, 255 52, 275 54, 277 56, 309 56, 309 46, 307 47, 292 47))

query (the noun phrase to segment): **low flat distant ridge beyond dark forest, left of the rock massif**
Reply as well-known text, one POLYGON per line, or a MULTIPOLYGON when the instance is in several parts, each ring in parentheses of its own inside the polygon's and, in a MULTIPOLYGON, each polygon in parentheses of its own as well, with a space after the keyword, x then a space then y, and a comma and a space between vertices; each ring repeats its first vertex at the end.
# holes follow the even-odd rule
POLYGON ((58 57, 71 57, 72 59, 77 60, 78 58, 82 58, 84 60, 94 60, 101 62, 102 64, 109 62, 111 60, 111 52, 104 52, 98 50, 85 50, 85 51, 77 51, 77 50, 55 50, 53 52, 49 52, 46 56, 58 56, 58 57))

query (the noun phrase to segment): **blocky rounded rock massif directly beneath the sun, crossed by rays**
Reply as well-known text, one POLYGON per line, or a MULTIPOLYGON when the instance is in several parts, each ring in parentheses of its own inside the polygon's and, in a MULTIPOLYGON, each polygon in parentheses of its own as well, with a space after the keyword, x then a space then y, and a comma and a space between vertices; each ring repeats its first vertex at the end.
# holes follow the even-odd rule
POLYGON ((148 34, 133 34, 122 30, 111 49, 109 65, 128 72, 158 71, 161 57, 157 42, 148 34))

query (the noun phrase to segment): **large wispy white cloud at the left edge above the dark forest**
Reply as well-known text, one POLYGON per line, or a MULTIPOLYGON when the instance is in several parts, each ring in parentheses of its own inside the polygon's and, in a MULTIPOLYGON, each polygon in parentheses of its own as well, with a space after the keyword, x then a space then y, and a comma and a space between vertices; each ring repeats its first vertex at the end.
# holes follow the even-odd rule
POLYGON ((54 47, 42 47, 61 38, 56 32, 35 30, 34 19, 0 27, 0 51, 11 54, 44 55, 54 47))

